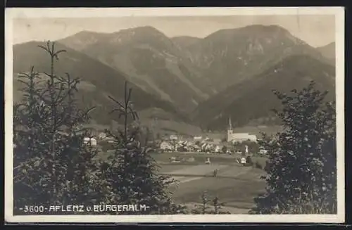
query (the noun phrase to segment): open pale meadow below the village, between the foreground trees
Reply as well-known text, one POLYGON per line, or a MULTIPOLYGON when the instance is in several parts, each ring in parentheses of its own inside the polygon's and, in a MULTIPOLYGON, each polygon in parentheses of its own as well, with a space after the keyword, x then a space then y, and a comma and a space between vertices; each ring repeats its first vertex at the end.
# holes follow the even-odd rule
POLYGON ((201 194, 218 196, 231 213, 247 213, 253 207, 253 198, 265 189, 260 179, 263 170, 237 164, 219 165, 161 165, 161 174, 168 174, 178 183, 170 187, 175 202, 194 206, 201 203, 201 194), (218 176, 212 177, 214 169, 218 176))

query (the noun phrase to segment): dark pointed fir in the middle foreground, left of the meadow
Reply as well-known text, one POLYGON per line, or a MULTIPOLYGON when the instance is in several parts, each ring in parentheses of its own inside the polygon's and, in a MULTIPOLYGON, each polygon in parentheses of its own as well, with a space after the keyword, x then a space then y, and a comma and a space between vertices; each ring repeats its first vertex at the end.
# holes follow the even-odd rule
MULTIPOLYGON (((149 150, 149 131, 142 132, 138 124, 138 115, 132 108, 132 89, 125 82, 124 101, 111 97, 122 117, 122 128, 106 130, 113 136, 115 152, 103 165, 103 174, 108 180, 111 203, 147 205, 149 210, 141 214, 177 214, 184 212, 184 207, 172 203, 168 186, 175 183, 170 177, 158 175, 158 165, 149 150)), ((120 212, 120 214, 136 214, 120 212)))

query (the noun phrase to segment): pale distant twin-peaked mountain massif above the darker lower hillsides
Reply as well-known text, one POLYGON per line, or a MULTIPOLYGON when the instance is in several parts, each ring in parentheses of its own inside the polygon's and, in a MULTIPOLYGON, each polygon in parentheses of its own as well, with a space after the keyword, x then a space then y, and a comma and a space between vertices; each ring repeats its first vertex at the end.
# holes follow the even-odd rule
MULTIPOLYGON (((278 25, 218 30, 204 38, 169 38, 151 26, 103 36, 105 39, 100 45, 87 46, 82 52, 125 72, 131 82, 185 108, 185 113, 190 113, 199 103, 226 87, 258 75, 286 56, 308 53, 324 63, 333 64, 278 25), (177 87, 169 87, 168 82, 177 87), (181 88, 182 96, 175 91, 181 88)), ((60 41, 73 46, 71 40, 75 41, 75 35, 60 41)))

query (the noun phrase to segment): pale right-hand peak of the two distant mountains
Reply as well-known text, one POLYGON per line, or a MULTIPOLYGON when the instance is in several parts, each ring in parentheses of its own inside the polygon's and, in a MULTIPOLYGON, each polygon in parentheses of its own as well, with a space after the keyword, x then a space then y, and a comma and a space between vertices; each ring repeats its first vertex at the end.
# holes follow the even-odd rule
POLYGON ((308 55, 331 64, 315 48, 276 25, 219 30, 185 46, 184 51, 201 69, 202 81, 213 94, 256 77, 289 56, 308 55))

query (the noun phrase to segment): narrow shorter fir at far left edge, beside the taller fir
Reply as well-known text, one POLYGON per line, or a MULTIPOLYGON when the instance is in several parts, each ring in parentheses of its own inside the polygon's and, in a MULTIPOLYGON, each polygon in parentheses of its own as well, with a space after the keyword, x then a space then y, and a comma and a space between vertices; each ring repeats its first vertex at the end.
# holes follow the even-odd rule
MULTIPOLYGON (((42 103, 37 101, 39 74, 30 68, 30 73, 19 75, 18 82, 24 84, 23 101, 13 108, 13 196, 14 207, 39 201, 43 198, 42 185, 33 183, 37 174, 34 167, 44 161, 40 153, 40 127, 38 126, 42 112, 42 103), (38 119, 39 118, 39 119, 38 119), (36 154, 37 153, 37 154, 36 154)), ((38 179, 38 178, 37 178, 38 179)), ((45 194, 47 195, 47 194, 45 194)))

